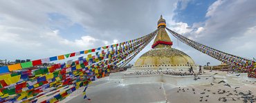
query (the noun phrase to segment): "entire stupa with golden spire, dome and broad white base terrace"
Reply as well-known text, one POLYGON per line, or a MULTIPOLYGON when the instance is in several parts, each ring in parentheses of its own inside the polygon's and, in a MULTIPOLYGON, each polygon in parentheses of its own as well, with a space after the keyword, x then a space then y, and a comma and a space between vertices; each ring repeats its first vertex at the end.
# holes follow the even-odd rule
MULTIPOLYGON (((60 102, 246 102, 256 95, 255 80, 247 73, 203 70, 180 51, 172 48, 163 16, 152 49, 136 60, 127 71, 111 73, 89 84, 83 99, 80 88, 60 102), (192 68, 194 73, 189 71, 192 68), (250 92, 251 91, 251 92, 250 92)), ((252 100, 255 101, 255 100, 252 100)), ((250 102, 250 101, 248 101, 250 102)))

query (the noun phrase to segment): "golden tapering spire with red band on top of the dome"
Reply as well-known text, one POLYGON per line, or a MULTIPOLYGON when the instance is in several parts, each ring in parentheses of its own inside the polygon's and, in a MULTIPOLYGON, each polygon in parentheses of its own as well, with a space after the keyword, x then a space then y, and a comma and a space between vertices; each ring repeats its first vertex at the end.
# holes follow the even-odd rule
POLYGON ((167 32, 165 31, 166 23, 162 15, 158 20, 157 27, 158 27, 158 32, 157 32, 154 44, 152 45, 152 48, 172 47, 172 41, 168 36, 167 32))

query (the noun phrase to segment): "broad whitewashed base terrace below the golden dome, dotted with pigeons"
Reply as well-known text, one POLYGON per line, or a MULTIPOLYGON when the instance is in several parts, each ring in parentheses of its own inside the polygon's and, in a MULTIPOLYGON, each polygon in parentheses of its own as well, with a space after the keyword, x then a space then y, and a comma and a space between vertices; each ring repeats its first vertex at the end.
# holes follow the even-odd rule
MULTIPOLYGON (((173 70, 155 70, 162 74, 145 74, 145 70, 111 73, 95 80, 86 91, 90 100, 82 99, 84 88, 78 89, 61 102, 243 102, 241 93, 256 91, 256 80, 246 73, 208 71, 198 76, 163 74, 173 70), (167 72, 165 72, 167 71, 167 72), (144 73, 144 74, 138 74, 144 73), (197 80, 194 80, 197 78, 197 80), (230 84, 230 87, 226 84, 230 84), (241 92, 241 93, 240 93, 241 92), (232 93, 232 94, 231 94, 232 93), (229 98, 222 98, 228 95, 229 98), (200 97, 203 97, 200 98, 200 97), (232 100, 234 99, 234 100, 232 100), (205 101, 206 100, 206 101, 205 101)), ((153 72, 153 70, 152 70, 153 72)), ((197 73, 197 72, 195 72, 197 73)), ((255 92, 250 95, 256 95, 255 92)), ((250 96, 248 95, 248 96, 250 96)))

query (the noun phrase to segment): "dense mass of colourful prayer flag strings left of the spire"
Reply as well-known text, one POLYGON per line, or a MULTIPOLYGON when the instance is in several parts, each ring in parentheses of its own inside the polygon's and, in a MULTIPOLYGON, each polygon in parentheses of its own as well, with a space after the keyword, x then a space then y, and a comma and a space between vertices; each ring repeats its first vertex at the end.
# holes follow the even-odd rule
MULTIPOLYGON (((134 58, 152 38, 156 31, 131 41, 74 52, 50 58, 33 60, 7 67, 0 67, 0 102, 44 102, 64 100, 80 87, 87 87, 97 78, 107 76, 111 69, 134 58), (43 62, 67 60, 51 67, 35 67, 43 62), (47 98, 47 99, 45 99, 47 98)), ((84 89, 84 98, 86 96, 84 89)), ((89 98, 87 98, 89 99, 89 98)))

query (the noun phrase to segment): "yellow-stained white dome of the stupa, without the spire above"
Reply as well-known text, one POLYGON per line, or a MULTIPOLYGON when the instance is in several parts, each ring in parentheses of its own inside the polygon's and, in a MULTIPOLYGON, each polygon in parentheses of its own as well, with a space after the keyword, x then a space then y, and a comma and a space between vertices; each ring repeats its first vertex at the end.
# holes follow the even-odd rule
POLYGON ((179 49, 161 47, 149 50, 135 62, 133 69, 197 69, 194 60, 179 49))

